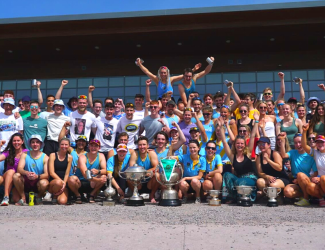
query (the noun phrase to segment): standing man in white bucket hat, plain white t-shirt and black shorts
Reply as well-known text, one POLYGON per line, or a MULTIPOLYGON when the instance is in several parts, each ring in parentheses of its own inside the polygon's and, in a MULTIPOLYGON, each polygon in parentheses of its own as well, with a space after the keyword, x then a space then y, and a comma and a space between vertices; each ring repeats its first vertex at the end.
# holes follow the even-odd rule
POLYGON ((65 108, 66 107, 62 100, 54 100, 54 104, 52 105, 54 113, 51 113, 45 117, 47 121, 47 136, 44 146, 44 153, 46 153, 48 156, 50 153, 58 150, 59 133, 65 122, 70 122, 70 117, 62 113, 65 108))

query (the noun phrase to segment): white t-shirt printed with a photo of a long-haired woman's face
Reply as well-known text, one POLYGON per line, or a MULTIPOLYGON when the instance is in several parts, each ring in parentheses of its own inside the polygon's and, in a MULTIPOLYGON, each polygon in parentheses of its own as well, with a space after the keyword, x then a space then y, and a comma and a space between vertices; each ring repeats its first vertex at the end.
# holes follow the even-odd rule
POLYGON ((91 127, 96 127, 95 115, 86 112, 85 114, 79 114, 78 110, 75 110, 69 114, 71 120, 70 126, 70 142, 75 141, 78 135, 85 135, 89 141, 91 127))

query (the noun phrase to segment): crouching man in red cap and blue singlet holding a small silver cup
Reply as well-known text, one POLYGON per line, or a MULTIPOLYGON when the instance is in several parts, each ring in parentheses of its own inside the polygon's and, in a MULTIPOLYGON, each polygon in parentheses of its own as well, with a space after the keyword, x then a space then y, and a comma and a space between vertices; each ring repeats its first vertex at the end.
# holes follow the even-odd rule
POLYGON ((89 152, 79 156, 77 170, 67 180, 69 188, 75 194, 77 204, 82 203, 81 194, 83 193, 87 193, 89 203, 94 203, 97 191, 106 188, 106 160, 105 156, 98 152, 99 149, 100 141, 90 140, 89 152), (90 170, 91 179, 86 179, 86 170, 90 170))

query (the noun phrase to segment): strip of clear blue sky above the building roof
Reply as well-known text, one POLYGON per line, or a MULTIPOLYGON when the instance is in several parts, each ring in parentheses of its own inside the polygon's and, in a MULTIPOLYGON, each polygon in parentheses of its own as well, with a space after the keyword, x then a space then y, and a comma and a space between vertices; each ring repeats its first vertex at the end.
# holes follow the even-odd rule
POLYGON ((0 0, 0 18, 298 1, 310 0, 0 0))

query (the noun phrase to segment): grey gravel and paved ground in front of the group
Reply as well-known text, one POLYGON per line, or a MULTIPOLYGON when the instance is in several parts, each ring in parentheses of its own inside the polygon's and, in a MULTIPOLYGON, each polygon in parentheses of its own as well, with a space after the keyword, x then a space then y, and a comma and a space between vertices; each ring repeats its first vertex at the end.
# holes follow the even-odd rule
POLYGON ((9 205, 0 238, 10 249, 325 249, 324 215, 316 205, 9 205))

